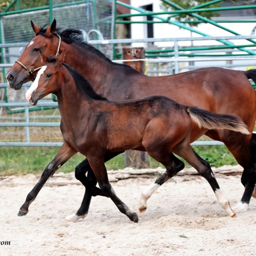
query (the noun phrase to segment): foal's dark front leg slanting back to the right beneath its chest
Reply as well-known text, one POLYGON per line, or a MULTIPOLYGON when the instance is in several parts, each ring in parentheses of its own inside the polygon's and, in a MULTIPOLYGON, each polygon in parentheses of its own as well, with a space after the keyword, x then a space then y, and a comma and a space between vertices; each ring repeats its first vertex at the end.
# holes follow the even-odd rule
POLYGON ((106 197, 111 198, 117 208, 125 214, 131 221, 138 222, 138 215, 135 212, 132 212, 129 207, 124 204, 115 194, 114 189, 112 188, 108 174, 106 172, 106 167, 104 165, 104 158, 102 157, 90 157, 87 156, 89 163, 93 169, 93 172, 97 178, 100 189, 103 191, 106 197))

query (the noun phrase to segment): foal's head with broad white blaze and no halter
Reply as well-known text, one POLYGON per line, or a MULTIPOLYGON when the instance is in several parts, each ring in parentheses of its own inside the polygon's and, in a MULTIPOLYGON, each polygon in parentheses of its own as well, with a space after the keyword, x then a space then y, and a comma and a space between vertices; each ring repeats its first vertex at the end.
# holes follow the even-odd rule
POLYGON ((37 72, 34 82, 26 92, 26 100, 31 105, 36 105, 39 99, 57 92, 58 84, 61 84, 59 73, 61 72, 62 61, 65 58, 65 51, 59 57, 54 56, 49 59, 40 53, 40 58, 43 66, 37 72))

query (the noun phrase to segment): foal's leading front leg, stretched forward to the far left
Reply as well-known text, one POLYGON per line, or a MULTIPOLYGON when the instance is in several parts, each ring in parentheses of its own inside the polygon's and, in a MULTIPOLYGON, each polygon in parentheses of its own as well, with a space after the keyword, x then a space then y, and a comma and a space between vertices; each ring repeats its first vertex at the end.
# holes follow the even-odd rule
POLYGON ((41 175, 41 178, 28 194, 25 203, 19 209, 18 216, 24 216, 28 213, 30 204, 35 200, 39 191, 45 185, 49 177, 52 176, 61 165, 67 162, 76 153, 77 151, 74 150, 74 148, 70 147, 66 142, 63 143, 58 154, 47 165, 46 169, 41 175))

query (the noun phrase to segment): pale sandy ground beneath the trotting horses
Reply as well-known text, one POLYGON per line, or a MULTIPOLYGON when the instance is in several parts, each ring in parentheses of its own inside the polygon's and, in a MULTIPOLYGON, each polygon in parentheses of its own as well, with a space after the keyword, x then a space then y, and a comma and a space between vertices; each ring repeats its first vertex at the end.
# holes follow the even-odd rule
MULTIPOLYGON (((240 177, 217 174, 231 205, 244 191, 240 177)), ((39 175, 2 178, 1 256, 255 255, 256 200, 251 199, 247 212, 226 217, 209 184, 199 176, 178 175, 165 183, 148 200, 139 223, 131 222, 103 197, 92 199, 85 219, 65 221, 76 212, 84 193, 73 173, 57 173, 42 188, 28 215, 17 217, 39 175)), ((119 198, 136 212, 142 189, 155 180, 146 174, 134 178, 129 170, 112 172, 110 179, 119 198)))

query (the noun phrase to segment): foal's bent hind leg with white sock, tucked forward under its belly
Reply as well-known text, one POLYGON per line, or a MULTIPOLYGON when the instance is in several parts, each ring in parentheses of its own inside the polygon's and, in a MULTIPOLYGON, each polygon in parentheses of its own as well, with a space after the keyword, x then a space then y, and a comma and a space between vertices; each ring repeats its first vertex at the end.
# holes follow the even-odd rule
POLYGON ((172 153, 166 155, 166 154, 158 154, 156 152, 154 153, 148 153, 151 157, 153 157, 158 162, 162 163, 166 171, 165 173, 159 177, 154 183, 146 187, 140 196, 139 201, 139 211, 142 213, 146 210, 147 200, 153 195, 153 193, 168 179, 174 177, 180 170, 184 168, 184 163, 179 160, 177 157, 175 157, 172 153))

